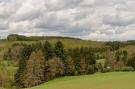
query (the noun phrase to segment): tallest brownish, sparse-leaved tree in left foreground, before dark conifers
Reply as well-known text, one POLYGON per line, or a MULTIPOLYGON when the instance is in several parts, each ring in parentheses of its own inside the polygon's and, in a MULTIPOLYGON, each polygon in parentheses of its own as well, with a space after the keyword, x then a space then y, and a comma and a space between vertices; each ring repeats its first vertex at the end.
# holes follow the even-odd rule
POLYGON ((24 75, 24 87, 32 87, 44 82, 45 59, 42 51, 32 52, 27 61, 24 75))

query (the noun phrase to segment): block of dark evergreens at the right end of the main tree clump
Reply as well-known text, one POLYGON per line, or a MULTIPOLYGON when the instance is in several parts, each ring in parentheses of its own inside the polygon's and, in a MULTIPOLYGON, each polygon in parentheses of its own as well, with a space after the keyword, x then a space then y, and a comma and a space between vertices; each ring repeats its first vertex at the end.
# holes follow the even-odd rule
POLYGON ((85 69, 85 67, 96 64, 94 51, 95 49, 86 47, 69 49, 68 53, 74 59, 76 71, 78 71, 78 74, 87 73, 90 68, 85 69), (84 71, 84 73, 81 73, 82 71, 84 71))

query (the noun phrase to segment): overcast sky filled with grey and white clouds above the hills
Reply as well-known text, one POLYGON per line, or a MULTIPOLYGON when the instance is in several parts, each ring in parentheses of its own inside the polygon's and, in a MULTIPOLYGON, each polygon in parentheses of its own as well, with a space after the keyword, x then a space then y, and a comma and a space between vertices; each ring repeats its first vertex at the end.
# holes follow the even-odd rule
POLYGON ((0 36, 135 40, 135 0, 0 0, 0 36))

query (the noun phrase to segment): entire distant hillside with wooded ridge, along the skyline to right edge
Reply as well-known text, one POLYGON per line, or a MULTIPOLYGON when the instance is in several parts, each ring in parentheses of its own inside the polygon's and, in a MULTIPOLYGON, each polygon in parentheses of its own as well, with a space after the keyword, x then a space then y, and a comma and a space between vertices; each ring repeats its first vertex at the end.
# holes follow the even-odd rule
POLYGON ((91 41, 91 40, 82 40, 79 38, 72 38, 72 37, 61 37, 61 36, 23 36, 18 34, 11 34, 7 37, 7 46, 13 43, 33 43, 36 41, 49 41, 50 43, 54 44, 57 41, 62 41, 65 48, 80 48, 80 47, 93 47, 93 48, 105 48, 111 47, 112 50, 117 50, 121 47, 125 47, 127 45, 135 45, 135 41, 91 41))

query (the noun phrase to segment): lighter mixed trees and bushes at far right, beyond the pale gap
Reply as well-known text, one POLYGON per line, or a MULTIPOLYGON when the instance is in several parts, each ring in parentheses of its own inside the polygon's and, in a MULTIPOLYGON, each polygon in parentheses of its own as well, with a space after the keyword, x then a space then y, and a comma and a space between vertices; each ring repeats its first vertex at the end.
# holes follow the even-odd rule
POLYGON ((126 50, 106 51, 105 65, 106 71, 133 71, 135 69, 135 57, 129 56, 126 50))

